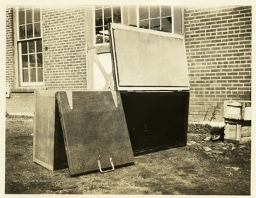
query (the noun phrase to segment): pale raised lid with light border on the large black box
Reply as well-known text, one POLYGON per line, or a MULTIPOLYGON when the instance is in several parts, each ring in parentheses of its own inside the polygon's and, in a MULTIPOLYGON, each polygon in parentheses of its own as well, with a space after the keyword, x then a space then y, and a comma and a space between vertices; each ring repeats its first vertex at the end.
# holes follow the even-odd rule
POLYGON ((183 35, 109 26, 115 89, 189 90, 183 35))

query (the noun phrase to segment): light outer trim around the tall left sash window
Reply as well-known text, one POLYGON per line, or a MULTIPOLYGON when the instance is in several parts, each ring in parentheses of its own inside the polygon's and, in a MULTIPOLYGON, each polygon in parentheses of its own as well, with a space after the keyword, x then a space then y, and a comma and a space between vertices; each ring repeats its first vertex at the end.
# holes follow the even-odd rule
MULTIPOLYGON (((22 41, 28 41, 28 40, 37 40, 41 39, 42 43, 42 60, 43 60, 43 23, 42 23, 42 8, 40 7, 40 28, 41 28, 41 36, 33 37, 33 38, 27 38, 27 39, 19 39, 19 23, 18 23, 18 6, 16 7, 16 43, 17 43, 17 58, 18 58, 18 82, 21 87, 43 87, 44 86, 44 61, 43 61, 43 82, 23 82, 23 75, 22 75, 22 56, 21 56, 21 42, 22 41)), ((33 17, 33 16, 32 16, 33 17)), ((25 18, 26 18, 26 12, 25 12, 25 18)), ((34 20, 34 19, 32 19, 34 20)), ((26 31, 25 31, 26 33, 26 31)), ((34 31, 33 31, 34 35, 34 31)), ((36 73, 37 75, 37 73, 36 73)), ((30 77, 29 77, 30 78, 30 77)))

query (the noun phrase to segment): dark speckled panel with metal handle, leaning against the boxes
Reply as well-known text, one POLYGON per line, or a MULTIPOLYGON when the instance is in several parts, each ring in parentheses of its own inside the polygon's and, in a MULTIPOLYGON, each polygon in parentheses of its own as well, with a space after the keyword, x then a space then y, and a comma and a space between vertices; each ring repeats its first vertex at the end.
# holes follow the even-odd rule
POLYGON ((70 175, 134 162, 122 102, 111 92, 73 92, 70 109, 65 92, 57 93, 70 175))

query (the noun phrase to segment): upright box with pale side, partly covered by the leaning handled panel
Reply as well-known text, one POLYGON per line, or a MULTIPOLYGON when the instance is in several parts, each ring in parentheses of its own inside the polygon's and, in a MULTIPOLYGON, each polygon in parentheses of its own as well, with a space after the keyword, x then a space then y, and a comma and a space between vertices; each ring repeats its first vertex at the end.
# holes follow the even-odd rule
POLYGON ((67 167, 62 130, 55 111, 55 91, 36 91, 33 161, 50 170, 67 167))

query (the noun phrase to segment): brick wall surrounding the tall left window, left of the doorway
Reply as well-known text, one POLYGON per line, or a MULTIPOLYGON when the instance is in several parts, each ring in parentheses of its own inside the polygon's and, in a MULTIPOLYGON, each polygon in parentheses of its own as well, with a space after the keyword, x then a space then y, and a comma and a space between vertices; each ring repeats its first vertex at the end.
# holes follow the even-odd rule
MULTIPOLYGON (((87 89, 84 7, 43 7, 42 22, 46 89, 87 89)), ((6 112, 33 115, 33 87, 24 89, 15 84, 13 26, 13 9, 7 8, 6 81, 12 89, 11 97, 6 99, 6 112)))

